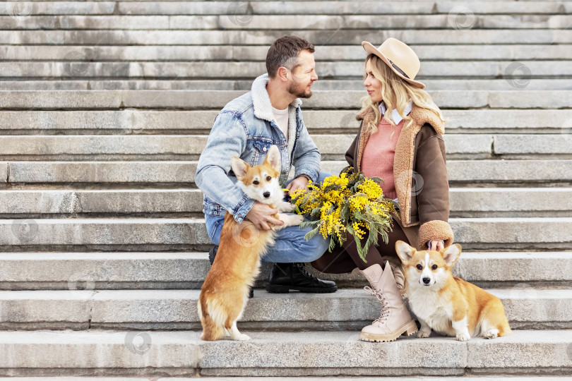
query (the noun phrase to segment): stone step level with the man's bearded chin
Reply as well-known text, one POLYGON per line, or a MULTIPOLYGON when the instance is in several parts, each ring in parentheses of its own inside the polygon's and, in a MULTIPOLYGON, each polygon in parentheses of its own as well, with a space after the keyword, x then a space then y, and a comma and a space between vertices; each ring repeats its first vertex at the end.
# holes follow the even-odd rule
MULTIPOLYGON (((572 30, 571 30, 572 32, 572 30)), ((53 90, 0 91, 0 109, 215 109, 220 110, 244 91, 198 90, 53 90)), ((462 91, 436 90, 429 93, 442 109, 561 109, 572 104, 566 90, 462 91)), ((359 109, 364 91, 316 91, 304 99, 307 109, 359 109)), ((353 111, 352 111, 353 112, 353 111)))

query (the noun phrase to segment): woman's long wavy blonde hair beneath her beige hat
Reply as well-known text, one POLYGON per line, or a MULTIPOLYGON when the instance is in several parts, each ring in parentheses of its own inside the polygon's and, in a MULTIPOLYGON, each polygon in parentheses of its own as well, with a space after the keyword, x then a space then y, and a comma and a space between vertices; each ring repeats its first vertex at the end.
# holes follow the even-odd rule
MULTIPOLYGON (((369 60, 371 60, 371 73, 375 78, 381 81, 381 99, 386 104, 386 112, 383 114, 383 119, 395 127, 396 125, 390 116, 393 110, 397 109, 399 114, 406 121, 404 128, 410 126, 411 123, 413 123, 413 119, 409 115, 403 115, 405 114, 405 108, 409 104, 409 100, 412 99, 413 104, 417 105, 417 107, 430 109, 443 123, 446 122, 446 120, 443 119, 441 110, 433 102, 431 95, 429 95, 427 91, 403 80, 403 78, 395 74, 395 72, 375 54, 368 54, 365 60, 364 80, 367 77, 365 66, 369 60)), ((361 114, 370 108, 375 113, 374 120, 370 121, 367 126, 363 126, 370 134, 377 131, 377 125, 381 120, 381 112, 379 111, 380 102, 371 102, 371 97, 369 96, 364 97, 362 100, 362 109, 359 110, 359 113, 361 114)))

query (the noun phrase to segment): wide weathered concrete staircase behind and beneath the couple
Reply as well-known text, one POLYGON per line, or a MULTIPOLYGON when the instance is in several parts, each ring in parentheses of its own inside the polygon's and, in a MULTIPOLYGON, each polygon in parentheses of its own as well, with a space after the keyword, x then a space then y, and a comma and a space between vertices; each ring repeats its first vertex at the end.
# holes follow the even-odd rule
POLYGON ((571 26, 572 1, 1 3, 0 376, 571 375, 571 26), (513 336, 358 341, 379 316, 364 279, 318 274, 340 291, 256 289, 252 341, 199 339, 196 162, 286 34, 316 45, 302 109, 333 173, 357 131, 359 43, 415 49, 448 119, 455 274, 501 298, 513 336))

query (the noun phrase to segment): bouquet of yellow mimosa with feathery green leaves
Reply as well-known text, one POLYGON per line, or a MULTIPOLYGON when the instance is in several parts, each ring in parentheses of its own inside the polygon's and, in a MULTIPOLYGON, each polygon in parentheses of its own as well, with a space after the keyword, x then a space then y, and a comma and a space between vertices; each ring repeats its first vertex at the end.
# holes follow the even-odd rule
POLYGON ((300 214, 310 221, 302 222, 301 228, 312 228, 304 239, 308 241, 316 234, 323 238, 330 236, 332 251, 336 243, 342 246, 347 234, 354 236, 359 256, 365 260, 371 245, 377 245, 378 234, 388 243, 387 232, 393 226, 391 214, 396 214, 398 204, 383 197, 377 182, 379 177, 365 177, 361 172, 342 173, 340 176, 326 177, 323 183, 310 181, 308 189, 299 189, 291 195, 300 214), (362 246, 364 235, 369 231, 362 246))

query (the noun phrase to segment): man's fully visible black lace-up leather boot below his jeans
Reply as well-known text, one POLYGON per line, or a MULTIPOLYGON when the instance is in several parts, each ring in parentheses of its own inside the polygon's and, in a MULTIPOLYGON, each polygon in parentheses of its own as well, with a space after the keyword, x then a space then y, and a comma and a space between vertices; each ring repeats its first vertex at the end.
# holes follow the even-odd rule
POLYGON ((306 271, 304 263, 275 263, 270 270, 266 291, 281 294, 290 290, 325 294, 337 291, 338 286, 335 282, 314 277, 306 271))

